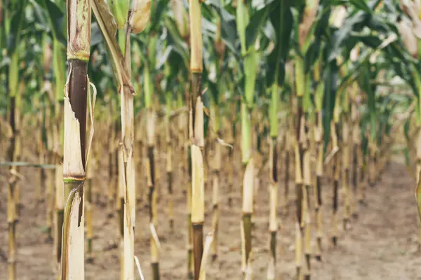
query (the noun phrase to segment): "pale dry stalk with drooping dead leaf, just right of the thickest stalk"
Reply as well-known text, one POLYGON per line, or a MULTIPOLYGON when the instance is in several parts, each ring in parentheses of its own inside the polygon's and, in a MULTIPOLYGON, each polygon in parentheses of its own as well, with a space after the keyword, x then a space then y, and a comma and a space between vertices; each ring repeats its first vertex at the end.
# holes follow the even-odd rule
MULTIPOLYGON (((126 4, 127 1, 124 1, 126 4)), ((135 165, 133 162, 133 144, 134 144, 134 116, 133 116, 133 96, 134 87, 131 83, 131 42, 130 34, 136 29, 137 22, 133 19, 138 18, 139 6, 135 5, 135 9, 129 10, 128 14, 123 13, 121 20, 121 12, 126 6, 112 6, 113 17, 109 6, 103 0, 94 0, 93 13, 105 38, 114 67, 114 76, 119 84, 119 94, 121 98, 121 153, 123 158, 123 167, 121 169, 121 183, 123 185, 123 279, 134 279, 134 228, 135 228, 135 165), (117 8, 114 10, 114 8, 117 8), (133 13, 132 13, 133 12, 133 13), (115 21, 117 20, 117 22, 115 21), (117 24, 126 27, 125 36, 122 36, 120 45, 124 45, 124 50, 119 47, 116 41, 117 24), (133 30, 132 30, 133 28, 133 30), (124 55, 123 55, 124 52, 124 55)), ((123 1, 121 1, 123 5, 123 1)), ((148 10, 140 10, 145 13, 145 17, 149 17, 148 10)), ((142 29, 142 28, 140 28, 142 29)))

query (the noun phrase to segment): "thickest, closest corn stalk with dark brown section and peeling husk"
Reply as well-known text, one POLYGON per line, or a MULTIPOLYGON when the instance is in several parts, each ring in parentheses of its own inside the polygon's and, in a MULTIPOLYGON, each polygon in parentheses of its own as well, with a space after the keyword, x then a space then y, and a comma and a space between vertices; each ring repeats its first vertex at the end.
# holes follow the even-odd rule
MULTIPOLYGON (((62 280, 84 279, 83 191, 86 175, 86 100, 91 48, 91 1, 67 1, 67 61, 63 180, 62 280)), ((92 118, 92 116, 91 116, 92 118)), ((92 128, 91 128, 92 129, 92 128)))

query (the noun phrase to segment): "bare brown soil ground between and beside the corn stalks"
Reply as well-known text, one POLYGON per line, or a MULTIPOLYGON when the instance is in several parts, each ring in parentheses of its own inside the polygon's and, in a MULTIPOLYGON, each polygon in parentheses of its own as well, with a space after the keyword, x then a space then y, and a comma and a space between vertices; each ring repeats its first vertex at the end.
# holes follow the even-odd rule
MULTIPOLYGON (((18 279, 54 279, 53 245, 46 240, 46 206, 37 204, 35 186, 39 182, 38 169, 21 168, 22 209, 17 226, 18 279)), ((106 192, 106 171, 94 179, 95 192, 106 192)), ((241 172, 237 172, 241 174, 241 172)), ((185 181, 177 176, 174 186, 175 232, 168 223, 168 195, 165 181, 159 182, 159 237, 161 241, 161 279, 187 279, 185 181)), ((187 177, 187 176, 184 176, 187 177)), ((240 217, 241 202, 237 176, 232 207, 227 204, 225 177, 222 177, 220 254, 214 262, 209 262, 208 279, 241 279, 240 217)), ((6 186, 7 169, 0 169, 0 279, 7 279, 7 223, 6 186)), ((386 167, 381 181, 366 189, 366 204, 359 206, 358 218, 353 218, 349 230, 340 228, 338 246, 330 244, 331 186, 323 186, 325 236, 323 238, 323 260, 312 260, 312 279, 421 279, 421 258, 417 248, 417 212, 413 188, 413 178, 408 174, 400 158, 386 167)), ((212 221, 211 189, 208 187, 206 200, 205 232, 210 231, 212 221)), ((280 183, 280 196, 283 185, 280 183)), ((290 182, 293 195, 293 182, 290 182)), ((266 279, 269 260, 268 215, 269 203, 265 179, 258 190, 253 237, 254 279, 266 279)), ((119 279, 119 236, 116 217, 108 218, 104 195, 95 197, 93 228, 95 257, 86 262, 86 279, 119 279)), ((292 199, 292 197, 291 197, 292 199)), ((342 195, 339 217, 342 220, 342 195)), ((293 204, 279 210, 281 232, 278 235, 277 279, 295 279, 294 265, 294 219, 293 204)), ((135 254, 140 260, 145 279, 151 279, 149 264, 149 228, 147 205, 140 202, 136 220, 135 254)), ((340 223, 342 225, 342 223, 340 223)), ((137 276, 137 279, 140 279, 137 276)))

